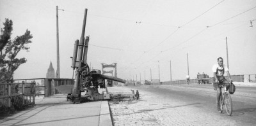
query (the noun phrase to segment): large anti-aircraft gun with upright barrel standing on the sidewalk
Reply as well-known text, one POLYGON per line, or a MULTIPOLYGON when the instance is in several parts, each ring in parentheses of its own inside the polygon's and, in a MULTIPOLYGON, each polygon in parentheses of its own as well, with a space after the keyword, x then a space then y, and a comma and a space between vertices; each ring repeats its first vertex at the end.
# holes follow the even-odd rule
POLYGON ((90 71, 87 64, 87 52, 89 36, 84 39, 84 31, 86 26, 87 9, 84 10, 83 29, 80 41, 77 39, 74 44, 74 53, 72 57, 72 68, 76 70, 75 83, 72 86, 72 92, 68 96, 74 103, 87 100, 104 100, 110 99, 109 94, 99 94, 98 88, 106 88, 105 80, 118 81, 125 83, 125 80, 115 78, 113 76, 106 76, 101 74, 100 70, 90 71), (85 95, 81 95, 85 92, 85 95))

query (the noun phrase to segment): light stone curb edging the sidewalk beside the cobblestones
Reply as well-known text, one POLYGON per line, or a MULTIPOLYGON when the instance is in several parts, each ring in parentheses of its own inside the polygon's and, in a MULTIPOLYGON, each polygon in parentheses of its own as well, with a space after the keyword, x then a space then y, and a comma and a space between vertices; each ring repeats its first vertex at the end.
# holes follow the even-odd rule
POLYGON ((112 126, 108 101, 101 102, 99 126, 112 126))

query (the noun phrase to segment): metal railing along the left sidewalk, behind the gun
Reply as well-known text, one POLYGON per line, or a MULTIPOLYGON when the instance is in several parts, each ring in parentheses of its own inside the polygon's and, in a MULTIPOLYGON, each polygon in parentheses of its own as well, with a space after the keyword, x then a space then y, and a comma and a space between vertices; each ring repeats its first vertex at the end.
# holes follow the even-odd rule
POLYGON ((74 79, 67 78, 30 78, 13 80, 13 83, 0 83, 0 113, 13 106, 22 108, 33 105, 37 98, 60 93, 56 87, 73 83, 74 79))

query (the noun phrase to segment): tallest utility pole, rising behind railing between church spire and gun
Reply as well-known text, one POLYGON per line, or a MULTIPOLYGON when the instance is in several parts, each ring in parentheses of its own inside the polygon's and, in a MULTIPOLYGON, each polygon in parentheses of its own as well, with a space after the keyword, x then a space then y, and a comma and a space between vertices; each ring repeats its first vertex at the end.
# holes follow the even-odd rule
POLYGON ((58 6, 56 6, 56 31, 57 31, 57 71, 56 78, 60 78, 60 51, 59 51, 59 14, 58 6))

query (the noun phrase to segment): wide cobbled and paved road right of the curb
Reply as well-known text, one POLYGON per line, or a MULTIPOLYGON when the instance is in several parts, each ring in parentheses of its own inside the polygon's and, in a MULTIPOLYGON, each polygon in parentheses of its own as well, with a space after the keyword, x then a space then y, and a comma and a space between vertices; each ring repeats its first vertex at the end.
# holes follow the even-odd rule
POLYGON ((255 125, 256 87, 237 87, 232 116, 216 110, 212 85, 111 87, 140 91, 139 101, 109 102, 115 125, 255 125))

